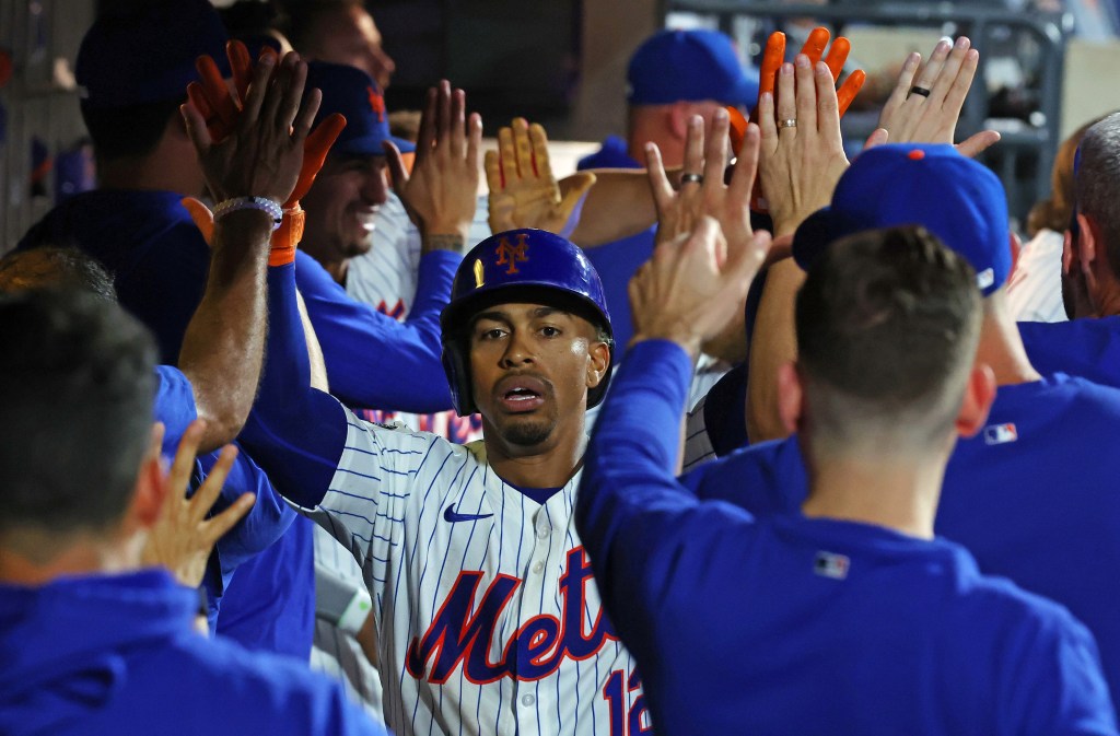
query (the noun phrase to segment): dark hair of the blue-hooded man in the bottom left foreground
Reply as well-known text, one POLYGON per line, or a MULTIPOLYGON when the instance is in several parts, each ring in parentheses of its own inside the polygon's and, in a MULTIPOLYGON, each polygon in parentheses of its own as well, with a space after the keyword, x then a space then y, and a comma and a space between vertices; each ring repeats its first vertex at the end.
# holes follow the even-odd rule
POLYGON ((151 335, 115 304, 0 296, 0 534, 121 519, 150 444, 155 365, 151 335))

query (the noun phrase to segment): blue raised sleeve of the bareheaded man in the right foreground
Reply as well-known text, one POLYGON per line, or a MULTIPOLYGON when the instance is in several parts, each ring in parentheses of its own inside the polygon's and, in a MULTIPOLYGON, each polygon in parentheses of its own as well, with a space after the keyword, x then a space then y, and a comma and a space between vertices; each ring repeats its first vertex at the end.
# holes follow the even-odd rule
POLYGON ((657 649, 676 604, 741 563, 752 516, 701 503, 673 477, 692 364, 676 345, 638 343, 626 353, 585 458, 576 524, 610 619, 642 667, 671 661, 657 649), (720 530, 735 530, 724 533, 720 530), (745 544, 745 542, 744 542, 745 544))

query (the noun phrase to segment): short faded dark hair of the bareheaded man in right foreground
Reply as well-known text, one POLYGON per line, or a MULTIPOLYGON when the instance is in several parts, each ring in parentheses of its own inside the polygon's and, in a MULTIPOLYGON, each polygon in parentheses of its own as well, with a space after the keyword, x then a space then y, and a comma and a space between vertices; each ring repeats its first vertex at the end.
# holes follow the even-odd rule
POLYGON ((819 436, 842 445, 876 425, 926 442, 948 431, 976 357, 980 315, 976 272, 922 227, 867 231, 830 245, 809 270, 795 317, 819 436))

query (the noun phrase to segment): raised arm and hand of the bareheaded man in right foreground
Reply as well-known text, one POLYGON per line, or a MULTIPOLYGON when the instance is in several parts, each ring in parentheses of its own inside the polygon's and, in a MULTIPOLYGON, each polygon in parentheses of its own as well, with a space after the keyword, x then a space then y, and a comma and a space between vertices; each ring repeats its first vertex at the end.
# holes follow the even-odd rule
MULTIPOLYGON (((757 146, 757 133, 750 138, 757 146)), ((576 524, 612 621, 640 662, 664 623, 664 586, 696 585, 701 560, 720 557, 711 547, 730 539, 713 530, 747 518, 701 505, 676 482, 678 442, 665 429, 684 410, 700 344, 732 317, 768 242, 759 233, 732 245, 704 216, 691 234, 659 244, 631 282, 636 334, 588 446, 576 524)))

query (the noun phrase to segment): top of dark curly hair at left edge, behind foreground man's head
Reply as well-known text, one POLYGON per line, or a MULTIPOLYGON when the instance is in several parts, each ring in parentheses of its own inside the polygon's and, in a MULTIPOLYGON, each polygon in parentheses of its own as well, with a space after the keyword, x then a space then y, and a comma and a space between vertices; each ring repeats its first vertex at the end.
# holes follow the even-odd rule
POLYGON ((0 258, 0 294, 46 287, 87 291, 105 301, 116 301, 113 277, 105 267, 73 245, 43 245, 0 258))

